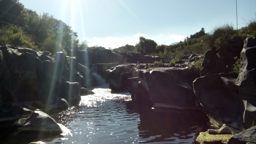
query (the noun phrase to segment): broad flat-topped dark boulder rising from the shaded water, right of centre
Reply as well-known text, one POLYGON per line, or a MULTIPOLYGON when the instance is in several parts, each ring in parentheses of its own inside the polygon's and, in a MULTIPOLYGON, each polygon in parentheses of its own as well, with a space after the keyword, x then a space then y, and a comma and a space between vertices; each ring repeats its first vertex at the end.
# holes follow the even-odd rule
POLYGON ((194 109, 192 81, 198 77, 192 70, 175 67, 140 71, 135 98, 153 107, 194 109))

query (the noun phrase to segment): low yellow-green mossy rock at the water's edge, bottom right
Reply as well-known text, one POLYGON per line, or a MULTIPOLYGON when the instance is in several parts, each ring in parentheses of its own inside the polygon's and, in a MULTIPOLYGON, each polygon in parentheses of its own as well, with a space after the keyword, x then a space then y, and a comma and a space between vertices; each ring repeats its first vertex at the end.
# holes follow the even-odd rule
POLYGON ((227 144, 233 135, 210 135, 208 132, 200 132, 196 141, 200 144, 227 144))

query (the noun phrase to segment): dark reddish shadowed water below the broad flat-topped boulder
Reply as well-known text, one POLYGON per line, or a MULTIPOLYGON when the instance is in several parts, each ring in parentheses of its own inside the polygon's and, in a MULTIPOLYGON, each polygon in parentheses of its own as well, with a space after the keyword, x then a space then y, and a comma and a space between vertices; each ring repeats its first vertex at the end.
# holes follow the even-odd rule
POLYGON ((168 144, 197 143, 195 139, 199 132, 207 131, 209 128, 207 124, 209 120, 201 111, 148 109, 135 101, 127 101, 126 109, 128 113, 140 115, 138 135, 145 139, 140 143, 164 141, 169 142, 168 144))

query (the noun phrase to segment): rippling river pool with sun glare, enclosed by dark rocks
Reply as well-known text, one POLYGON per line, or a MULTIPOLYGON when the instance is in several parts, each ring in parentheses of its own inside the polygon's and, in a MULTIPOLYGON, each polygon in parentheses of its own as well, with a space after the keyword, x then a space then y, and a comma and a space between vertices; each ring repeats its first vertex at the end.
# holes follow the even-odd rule
MULTIPOLYGON (((128 101, 128 92, 112 92, 108 85, 82 96, 79 104, 52 114, 70 135, 37 139, 46 144, 192 144, 207 129, 201 112, 148 109, 128 101)), ((29 140, 28 140, 29 141, 29 140)), ((30 141, 31 142, 31 141, 30 141)))

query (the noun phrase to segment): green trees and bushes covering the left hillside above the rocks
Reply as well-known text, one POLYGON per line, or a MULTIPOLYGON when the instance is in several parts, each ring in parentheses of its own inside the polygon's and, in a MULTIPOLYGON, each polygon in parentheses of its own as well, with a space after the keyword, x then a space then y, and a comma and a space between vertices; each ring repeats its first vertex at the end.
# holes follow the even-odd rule
POLYGON ((0 43, 27 46, 53 54, 65 47, 84 48, 77 33, 51 14, 25 9, 19 0, 0 0, 0 43))

